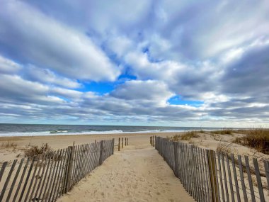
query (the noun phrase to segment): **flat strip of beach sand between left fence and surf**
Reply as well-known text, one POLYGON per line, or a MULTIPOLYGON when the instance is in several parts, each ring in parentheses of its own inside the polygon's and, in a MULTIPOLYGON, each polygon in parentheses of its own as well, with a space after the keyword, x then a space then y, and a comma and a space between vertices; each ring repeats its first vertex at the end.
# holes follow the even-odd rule
POLYGON ((151 135, 160 135, 161 137, 173 136, 178 133, 119 133, 119 134, 98 134, 98 135, 40 135, 27 137, 0 137, 0 162, 13 161, 24 157, 24 150, 30 145, 41 146, 47 144, 53 150, 66 148, 73 144, 81 145, 95 142, 95 140, 108 140, 115 138, 115 144, 118 143, 118 138, 129 138, 133 144, 139 142, 149 142, 151 135), (8 143, 9 142, 9 143, 8 143), (6 147, 6 144, 10 146, 6 147), (16 145, 14 147, 11 144, 16 145))

